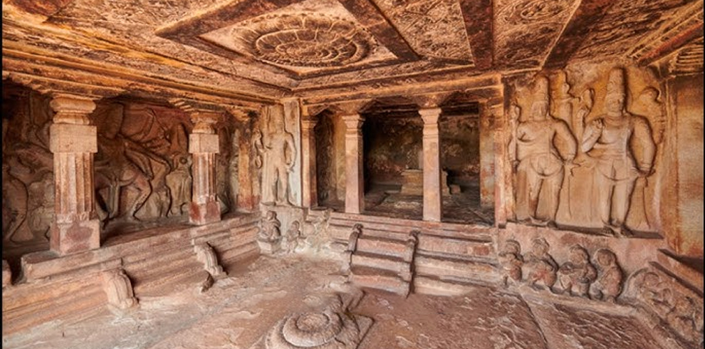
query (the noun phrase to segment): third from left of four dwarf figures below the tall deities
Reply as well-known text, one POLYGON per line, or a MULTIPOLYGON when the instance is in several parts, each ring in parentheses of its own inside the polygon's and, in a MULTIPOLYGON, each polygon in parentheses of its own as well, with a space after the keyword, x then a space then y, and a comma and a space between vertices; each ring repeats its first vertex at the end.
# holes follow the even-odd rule
POLYGON ((590 264, 590 255, 583 246, 570 247, 570 260, 558 269, 557 293, 568 292, 571 296, 587 297, 590 283, 597 278, 597 269, 590 264))

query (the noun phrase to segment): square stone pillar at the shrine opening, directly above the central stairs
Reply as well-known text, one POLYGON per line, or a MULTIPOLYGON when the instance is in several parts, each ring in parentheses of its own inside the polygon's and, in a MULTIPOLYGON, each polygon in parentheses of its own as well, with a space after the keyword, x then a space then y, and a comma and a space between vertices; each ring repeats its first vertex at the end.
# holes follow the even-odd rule
POLYGON ((362 167, 362 123, 360 114, 343 116, 345 121, 345 212, 365 210, 365 178, 362 167))

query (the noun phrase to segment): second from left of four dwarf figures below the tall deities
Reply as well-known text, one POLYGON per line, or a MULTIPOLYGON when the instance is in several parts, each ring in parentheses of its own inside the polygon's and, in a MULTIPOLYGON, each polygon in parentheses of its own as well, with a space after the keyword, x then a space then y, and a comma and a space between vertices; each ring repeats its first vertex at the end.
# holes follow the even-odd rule
POLYGON ((553 256, 548 254, 548 242, 542 237, 531 241, 531 251, 524 255, 523 267, 527 275, 526 282, 529 286, 551 289, 556 279, 558 264, 553 256))

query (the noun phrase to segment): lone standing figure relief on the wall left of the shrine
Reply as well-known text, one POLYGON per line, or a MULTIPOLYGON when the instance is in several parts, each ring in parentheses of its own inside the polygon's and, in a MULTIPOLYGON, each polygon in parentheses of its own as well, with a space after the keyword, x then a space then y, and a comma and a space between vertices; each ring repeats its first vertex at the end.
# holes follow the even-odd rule
MULTIPOLYGON (((276 204, 291 204, 289 201, 289 172, 293 170, 296 160, 296 147, 291 132, 284 127, 283 115, 271 115, 273 130, 265 145, 266 168, 263 186, 271 189, 267 199, 276 204)), ((265 192, 263 190, 263 192, 265 192)))

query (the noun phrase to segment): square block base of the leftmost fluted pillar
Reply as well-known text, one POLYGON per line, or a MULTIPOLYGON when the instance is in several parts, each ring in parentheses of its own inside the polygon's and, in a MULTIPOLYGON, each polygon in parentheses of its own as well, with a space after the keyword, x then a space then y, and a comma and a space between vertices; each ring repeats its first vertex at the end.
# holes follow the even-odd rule
POLYGON ((100 248, 100 220, 55 222, 51 227, 49 248, 60 255, 100 248))

